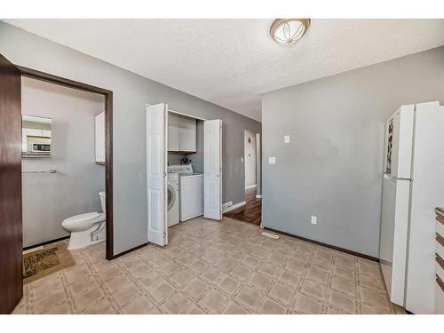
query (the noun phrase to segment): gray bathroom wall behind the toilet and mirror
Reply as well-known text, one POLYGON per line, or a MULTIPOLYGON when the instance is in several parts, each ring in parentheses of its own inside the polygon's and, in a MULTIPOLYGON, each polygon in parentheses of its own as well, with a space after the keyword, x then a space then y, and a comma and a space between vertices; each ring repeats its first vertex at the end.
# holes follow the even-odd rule
POLYGON ((22 176, 25 247, 68 235, 65 218, 101 212, 105 167, 95 163, 94 116, 104 107, 102 95, 22 78, 21 113, 52 118, 51 158, 23 158, 22 170, 57 170, 22 176))

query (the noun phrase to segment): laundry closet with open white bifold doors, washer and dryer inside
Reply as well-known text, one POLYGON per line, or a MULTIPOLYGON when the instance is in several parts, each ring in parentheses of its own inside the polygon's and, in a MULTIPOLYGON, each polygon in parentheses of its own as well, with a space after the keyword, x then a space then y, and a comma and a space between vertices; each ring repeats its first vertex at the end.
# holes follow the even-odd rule
POLYGON ((148 242, 199 216, 222 219, 222 121, 147 105, 148 242))

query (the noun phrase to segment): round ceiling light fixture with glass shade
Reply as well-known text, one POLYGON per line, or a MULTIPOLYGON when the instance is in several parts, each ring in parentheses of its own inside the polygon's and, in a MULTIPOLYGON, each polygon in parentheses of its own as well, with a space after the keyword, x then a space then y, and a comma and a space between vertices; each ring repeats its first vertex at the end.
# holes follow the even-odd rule
POLYGON ((276 19, 270 27, 270 35, 277 44, 294 44, 304 36, 310 27, 310 21, 310 19, 276 19))

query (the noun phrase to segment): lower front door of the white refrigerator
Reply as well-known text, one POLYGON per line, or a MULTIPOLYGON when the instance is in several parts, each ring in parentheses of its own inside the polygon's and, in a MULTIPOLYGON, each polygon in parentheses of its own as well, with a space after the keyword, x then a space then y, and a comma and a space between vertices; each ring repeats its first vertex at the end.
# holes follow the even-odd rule
POLYGON ((379 260, 390 300, 404 305, 410 181, 384 175, 379 260))

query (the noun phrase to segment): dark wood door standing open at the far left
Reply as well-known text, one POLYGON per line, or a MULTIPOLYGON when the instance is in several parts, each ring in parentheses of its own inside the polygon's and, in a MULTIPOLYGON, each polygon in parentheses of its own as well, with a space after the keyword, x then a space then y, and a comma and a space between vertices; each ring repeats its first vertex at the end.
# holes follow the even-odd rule
POLYGON ((20 76, 0 54, 0 313, 23 296, 20 76))

